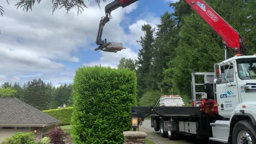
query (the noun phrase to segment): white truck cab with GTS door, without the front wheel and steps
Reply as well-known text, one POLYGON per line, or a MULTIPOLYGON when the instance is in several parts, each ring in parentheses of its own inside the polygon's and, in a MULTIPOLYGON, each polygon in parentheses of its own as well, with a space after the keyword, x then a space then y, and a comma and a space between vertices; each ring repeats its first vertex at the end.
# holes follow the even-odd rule
POLYGON ((215 64, 215 79, 215 97, 222 117, 230 118, 240 105, 256 106, 256 55, 233 57, 215 64))

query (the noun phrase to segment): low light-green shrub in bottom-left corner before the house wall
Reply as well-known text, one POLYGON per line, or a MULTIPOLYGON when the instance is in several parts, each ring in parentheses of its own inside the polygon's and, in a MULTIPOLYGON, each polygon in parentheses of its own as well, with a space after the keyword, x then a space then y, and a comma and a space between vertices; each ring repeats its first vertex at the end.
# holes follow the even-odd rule
POLYGON ((16 133, 12 137, 7 138, 2 144, 34 144, 34 134, 29 133, 16 133))

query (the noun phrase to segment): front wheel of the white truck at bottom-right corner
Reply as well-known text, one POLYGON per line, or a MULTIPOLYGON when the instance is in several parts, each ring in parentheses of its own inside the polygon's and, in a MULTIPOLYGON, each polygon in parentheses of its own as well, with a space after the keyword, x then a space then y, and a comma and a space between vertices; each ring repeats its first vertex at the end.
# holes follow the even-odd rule
POLYGON ((255 126, 248 120, 239 121, 235 124, 232 132, 232 143, 256 143, 255 126))

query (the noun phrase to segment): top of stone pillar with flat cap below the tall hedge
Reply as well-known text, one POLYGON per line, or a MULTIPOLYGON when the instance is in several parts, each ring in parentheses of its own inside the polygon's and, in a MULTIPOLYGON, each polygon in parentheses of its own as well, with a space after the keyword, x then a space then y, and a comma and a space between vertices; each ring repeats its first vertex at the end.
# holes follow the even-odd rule
POLYGON ((145 132, 128 131, 123 132, 124 144, 145 144, 145 138, 148 136, 145 132))

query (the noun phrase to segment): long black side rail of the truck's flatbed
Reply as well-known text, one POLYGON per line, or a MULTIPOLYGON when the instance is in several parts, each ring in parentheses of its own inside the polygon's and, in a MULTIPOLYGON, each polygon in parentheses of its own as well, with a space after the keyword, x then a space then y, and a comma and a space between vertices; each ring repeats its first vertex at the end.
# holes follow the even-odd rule
POLYGON ((146 115, 159 116, 201 116, 201 107, 131 107, 131 114, 139 118, 146 115))

